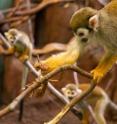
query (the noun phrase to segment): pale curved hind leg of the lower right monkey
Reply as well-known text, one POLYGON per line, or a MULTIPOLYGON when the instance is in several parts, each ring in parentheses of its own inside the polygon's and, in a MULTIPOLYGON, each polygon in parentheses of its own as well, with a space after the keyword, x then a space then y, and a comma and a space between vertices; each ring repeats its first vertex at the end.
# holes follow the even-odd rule
POLYGON ((106 124, 106 120, 104 118, 106 106, 107 100, 104 99, 104 97, 99 98, 94 108, 95 120, 97 124, 106 124))

